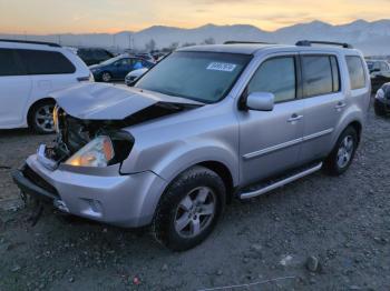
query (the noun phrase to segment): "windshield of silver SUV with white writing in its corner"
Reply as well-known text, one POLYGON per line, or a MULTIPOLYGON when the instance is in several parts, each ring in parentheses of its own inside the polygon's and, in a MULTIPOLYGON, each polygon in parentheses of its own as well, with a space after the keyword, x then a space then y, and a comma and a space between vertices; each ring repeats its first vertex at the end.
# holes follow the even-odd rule
POLYGON ((135 87, 214 103, 228 93, 251 58, 221 52, 174 52, 135 87))

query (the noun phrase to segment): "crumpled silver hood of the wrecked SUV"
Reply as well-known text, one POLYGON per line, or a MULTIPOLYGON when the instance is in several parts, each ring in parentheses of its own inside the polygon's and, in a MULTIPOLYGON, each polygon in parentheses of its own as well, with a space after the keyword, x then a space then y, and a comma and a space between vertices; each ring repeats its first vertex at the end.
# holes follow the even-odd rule
POLYGON ((51 96, 68 114, 85 120, 123 120, 156 103, 203 106, 184 98, 104 83, 84 83, 51 96))

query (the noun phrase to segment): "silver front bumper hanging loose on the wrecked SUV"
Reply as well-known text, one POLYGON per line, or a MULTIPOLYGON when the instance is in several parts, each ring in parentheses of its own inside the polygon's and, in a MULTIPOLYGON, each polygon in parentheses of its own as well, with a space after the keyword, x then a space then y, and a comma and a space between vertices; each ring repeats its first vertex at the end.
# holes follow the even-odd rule
POLYGON ((61 211, 125 228, 149 224, 166 188, 166 181, 149 171, 120 175, 119 165, 75 170, 49 170, 33 154, 12 177, 21 191, 52 201, 61 211))

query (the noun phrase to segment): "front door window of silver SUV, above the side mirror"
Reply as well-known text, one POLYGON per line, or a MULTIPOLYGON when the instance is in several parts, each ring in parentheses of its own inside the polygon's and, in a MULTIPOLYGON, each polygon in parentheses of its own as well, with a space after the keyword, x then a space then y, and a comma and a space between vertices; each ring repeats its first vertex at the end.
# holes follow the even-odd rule
POLYGON ((295 99, 295 61, 292 57, 275 58, 261 64, 251 80, 247 92, 270 92, 275 102, 295 99))

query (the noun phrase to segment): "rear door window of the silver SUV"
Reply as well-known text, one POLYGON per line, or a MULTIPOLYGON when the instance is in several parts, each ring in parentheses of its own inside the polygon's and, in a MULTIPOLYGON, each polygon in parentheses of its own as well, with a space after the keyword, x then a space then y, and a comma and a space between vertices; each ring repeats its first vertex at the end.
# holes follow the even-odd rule
POLYGON ((303 90, 305 97, 329 94, 340 90, 340 73, 334 56, 303 56, 303 90))

